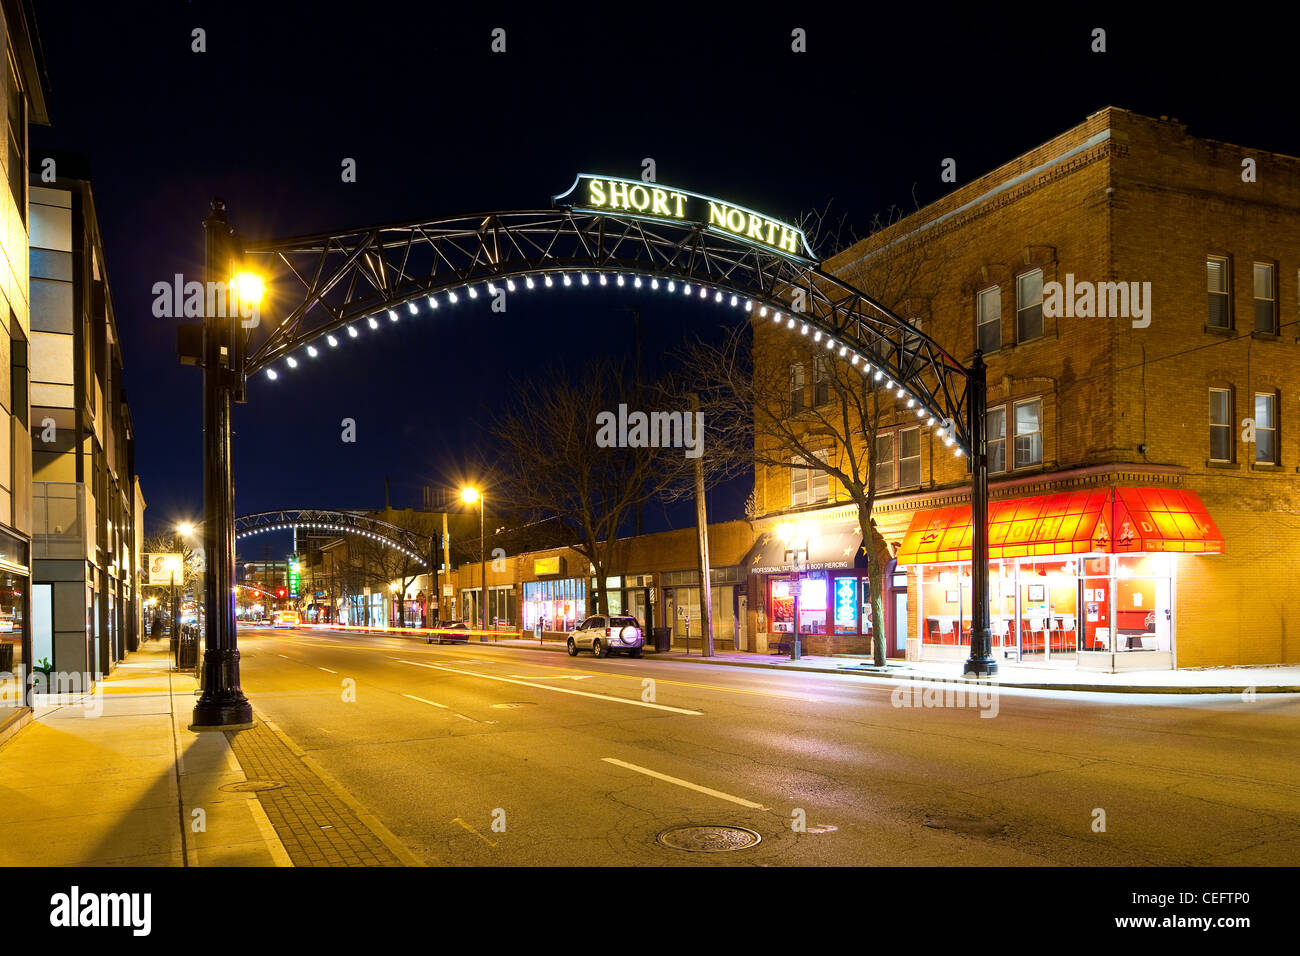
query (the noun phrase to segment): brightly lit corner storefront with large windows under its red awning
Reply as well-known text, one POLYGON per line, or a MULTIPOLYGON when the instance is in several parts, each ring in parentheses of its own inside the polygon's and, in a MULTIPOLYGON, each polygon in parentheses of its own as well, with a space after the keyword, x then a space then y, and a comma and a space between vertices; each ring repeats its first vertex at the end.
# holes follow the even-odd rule
MULTIPOLYGON (((1179 554, 1221 554, 1200 498, 1101 488, 989 505, 989 619, 1000 659, 1126 670, 1175 666, 1179 554)), ((971 512, 920 511, 898 553, 916 572, 915 657, 965 659, 971 512)))

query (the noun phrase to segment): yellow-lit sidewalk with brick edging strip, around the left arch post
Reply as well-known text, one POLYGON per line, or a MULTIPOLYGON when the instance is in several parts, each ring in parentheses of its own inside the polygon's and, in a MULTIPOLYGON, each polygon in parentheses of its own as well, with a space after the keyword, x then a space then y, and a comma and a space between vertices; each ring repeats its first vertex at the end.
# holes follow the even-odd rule
POLYGON ((420 862, 259 717, 188 730, 195 688, 151 641, 88 695, 36 697, 0 745, 0 866, 420 862))

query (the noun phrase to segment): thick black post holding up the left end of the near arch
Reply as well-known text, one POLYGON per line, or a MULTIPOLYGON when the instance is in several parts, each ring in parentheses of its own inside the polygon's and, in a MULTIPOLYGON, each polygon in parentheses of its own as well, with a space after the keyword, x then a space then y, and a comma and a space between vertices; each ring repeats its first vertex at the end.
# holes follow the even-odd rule
MULTIPOLYGON (((226 287, 234 274, 234 238, 226 204, 212 200, 203 220, 204 287, 226 287)), ((238 310, 217 310, 205 297, 203 336, 203 550, 204 575, 203 696, 194 705, 195 730, 222 730, 252 723, 252 705, 239 687, 239 645, 235 636, 235 511, 230 462, 230 397, 242 385, 243 329, 238 310), (216 315, 222 311, 225 315, 216 315)))

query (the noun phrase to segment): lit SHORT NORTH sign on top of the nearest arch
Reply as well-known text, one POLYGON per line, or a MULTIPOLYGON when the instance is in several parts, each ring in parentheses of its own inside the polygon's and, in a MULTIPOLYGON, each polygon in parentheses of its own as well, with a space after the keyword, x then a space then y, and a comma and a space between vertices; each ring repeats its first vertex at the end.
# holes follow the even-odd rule
POLYGON ((618 212, 641 219, 698 222, 711 232, 744 239, 780 255, 801 260, 815 259, 798 226, 744 206, 655 182, 578 173, 568 191, 555 196, 555 203, 585 212, 618 212))

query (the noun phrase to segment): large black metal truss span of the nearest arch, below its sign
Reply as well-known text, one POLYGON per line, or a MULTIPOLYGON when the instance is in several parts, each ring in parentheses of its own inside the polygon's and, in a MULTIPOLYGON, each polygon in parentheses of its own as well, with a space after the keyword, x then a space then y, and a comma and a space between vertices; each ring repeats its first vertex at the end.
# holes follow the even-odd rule
POLYGON ((790 328, 806 324, 829 337, 835 354, 859 356, 881 384, 950 421, 957 445, 971 451, 970 372, 937 342, 816 263, 703 222, 573 208, 482 212, 248 242, 244 254, 270 260, 269 285, 283 276, 292 289, 283 317, 250 342, 244 375, 367 317, 387 323, 390 311, 398 319, 411 310, 428 313, 424 299, 442 293, 477 293, 482 284, 521 276, 564 274, 571 282, 582 273, 646 276, 703 287, 710 297, 736 295, 755 310, 775 310, 790 328))

